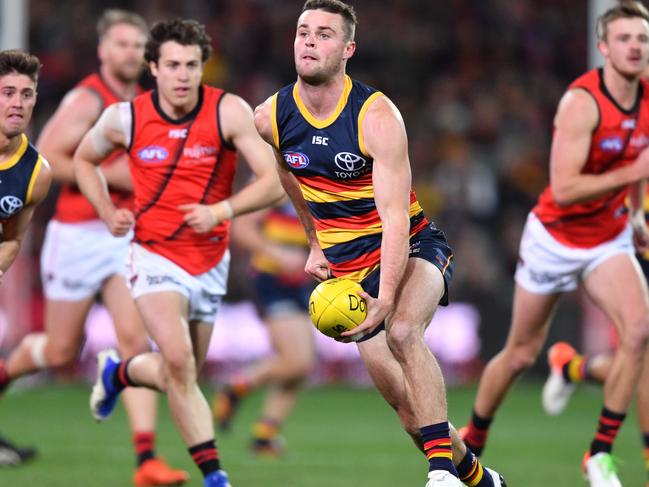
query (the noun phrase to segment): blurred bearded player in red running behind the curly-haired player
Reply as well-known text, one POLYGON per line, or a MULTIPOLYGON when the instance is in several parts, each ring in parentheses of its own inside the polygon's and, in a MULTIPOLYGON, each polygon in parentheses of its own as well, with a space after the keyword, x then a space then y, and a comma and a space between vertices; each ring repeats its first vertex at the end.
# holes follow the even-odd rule
MULTIPOLYGON (((84 78, 61 102, 38 140, 52 164, 61 192, 41 255, 45 294, 45 331, 30 334, 7 360, 0 387, 39 369, 60 367, 76 359, 84 322, 100 295, 115 325, 120 352, 130 357, 149 349, 144 325, 126 286, 129 238, 110 235, 74 181, 72 155, 102 110, 139 91, 148 28, 137 14, 107 10, 97 23, 99 71, 84 78)), ((102 164, 111 197, 130 204, 131 183, 124 151, 102 164)), ((155 393, 129 391, 124 403, 137 455, 135 485, 169 485, 187 479, 154 458, 155 393)))

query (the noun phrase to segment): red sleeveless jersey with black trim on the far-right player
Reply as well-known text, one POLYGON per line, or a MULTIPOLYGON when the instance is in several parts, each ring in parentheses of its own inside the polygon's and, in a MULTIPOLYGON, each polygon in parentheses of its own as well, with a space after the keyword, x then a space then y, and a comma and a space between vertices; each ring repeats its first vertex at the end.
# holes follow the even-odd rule
MULTIPOLYGON (((599 110, 599 122, 591 136, 582 174, 602 174, 632 164, 649 145, 649 83, 640 80, 637 100, 630 110, 613 99, 604 85, 601 68, 577 78, 568 89, 586 90, 599 110)), ((628 188, 624 187, 590 201, 559 206, 548 185, 532 211, 559 242, 590 248, 612 240, 624 229, 628 219, 624 209, 627 193, 628 188)))

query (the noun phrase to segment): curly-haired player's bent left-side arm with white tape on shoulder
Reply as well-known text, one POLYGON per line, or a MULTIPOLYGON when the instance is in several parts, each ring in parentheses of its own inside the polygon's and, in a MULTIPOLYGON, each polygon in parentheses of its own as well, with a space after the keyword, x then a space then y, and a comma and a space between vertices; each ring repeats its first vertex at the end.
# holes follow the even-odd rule
POLYGON ((118 209, 111 201, 108 184, 99 168, 108 154, 115 149, 125 149, 128 145, 119 105, 111 105, 104 110, 97 123, 84 136, 73 159, 79 188, 115 236, 126 235, 134 223, 130 210, 118 209))

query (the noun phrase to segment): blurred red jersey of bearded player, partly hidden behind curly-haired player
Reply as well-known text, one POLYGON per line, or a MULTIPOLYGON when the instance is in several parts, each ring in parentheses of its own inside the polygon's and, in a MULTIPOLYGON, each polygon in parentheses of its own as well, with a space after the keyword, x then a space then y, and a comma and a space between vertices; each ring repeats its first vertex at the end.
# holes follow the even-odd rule
MULTIPOLYGON (((103 78, 95 73, 82 79, 76 88, 85 88, 92 91, 101 100, 101 110, 103 111, 109 105, 117 103, 122 100, 115 92, 113 92, 103 78)), ((138 87, 138 93, 142 90, 138 87)), ((123 150, 117 150, 108 155, 102 164, 110 164, 117 157, 124 153, 123 150)), ((128 191, 118 191, 111 189, 110 196, 113 203, 118 208, 132 208, 133 196, 128 191)), ((81 190, 76 184, 62 184, 58 200, 56 202, 56 211, 54 213, 55 220, 66 223, 83 222, 88 220, 96 220, 99 218, 94 207, 81 193, 81 190)))

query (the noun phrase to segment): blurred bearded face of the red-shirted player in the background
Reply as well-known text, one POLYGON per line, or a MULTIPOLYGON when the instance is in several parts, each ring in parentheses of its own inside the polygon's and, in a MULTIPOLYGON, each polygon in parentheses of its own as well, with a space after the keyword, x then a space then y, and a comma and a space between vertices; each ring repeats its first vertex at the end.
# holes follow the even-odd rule
POLYGON ((99 59, 124 82, 137 81, 144 67, 146 34, 131 24, 111 26, 99 43, 99 59))

